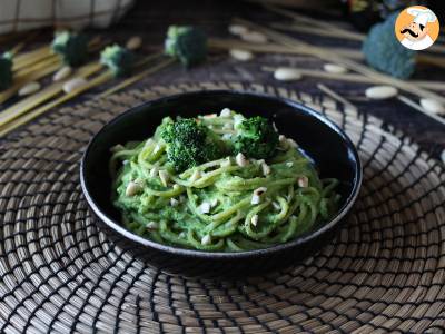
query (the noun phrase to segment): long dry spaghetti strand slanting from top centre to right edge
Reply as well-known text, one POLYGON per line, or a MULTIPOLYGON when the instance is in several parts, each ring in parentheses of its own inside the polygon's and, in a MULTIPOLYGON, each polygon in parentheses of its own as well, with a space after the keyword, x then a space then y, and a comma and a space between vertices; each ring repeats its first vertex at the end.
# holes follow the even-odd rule
POLYGON ((412 82, 406 82, 406 81, 389 77, 387 75, 377 72, 365 65, 362 65, 352 59, 342 57, 340 55, 336 53, 335 51, 326 51, 322 48, 314 47, 314 46, 305 43, 296 38, 289 37, 281 32, 275 31, 275 30, 266 28, 264 26, 256 24, 256 23, 247 21, 247 20, 236 19, 235 21, 240 24, 247 26, 253 30, 260 31, 260 32, 265 33, 269 39, 277 41, 284 46, 287 46, 293 49, 304 48, 307 50, 307 52, 313 53, 313 56, 315 56, 315 57, 318 57, 318 58, 324 59, 329 62, 336 62, 342 66, 345 66, 350 70, 359 72, 359 73, 364 75, 365 77, 368 77, 368 78, 375 80, 375 82, 392 85, 402 90, 408 91, 411 94, 414 94, 414 95, 417 95, 417 96, 421 96, 424 98, 437 99, 441 102, 445 104, 445 97, 443 97, 443 96, 439 96, 427 89, 421 88, 419 86, 414 85, 412 82))

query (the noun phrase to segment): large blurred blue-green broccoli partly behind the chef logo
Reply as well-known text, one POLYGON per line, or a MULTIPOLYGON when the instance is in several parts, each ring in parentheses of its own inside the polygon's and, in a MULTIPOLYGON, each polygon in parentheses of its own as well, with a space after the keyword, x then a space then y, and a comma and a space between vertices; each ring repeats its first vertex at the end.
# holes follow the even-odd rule
POLYGON ((416 52, 402 46, 394 35, 394 22, 398 12, 388 17, 382 23, 375 24, 362 50, 365 53, 366 62, 374 69, 388 73, 395 78, 409 78, 416 67, 416 52))

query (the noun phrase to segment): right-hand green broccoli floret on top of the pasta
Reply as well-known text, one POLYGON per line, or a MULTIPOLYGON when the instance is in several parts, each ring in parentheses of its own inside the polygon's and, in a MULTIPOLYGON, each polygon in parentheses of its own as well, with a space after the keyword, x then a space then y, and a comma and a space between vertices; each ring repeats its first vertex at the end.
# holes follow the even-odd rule
POLYGON ((256 116, 247 118, 238 126, 235 137, 235 154, 243 153, 255 159, 270 158, 278 145, 278 134, 266 118, 256 116))

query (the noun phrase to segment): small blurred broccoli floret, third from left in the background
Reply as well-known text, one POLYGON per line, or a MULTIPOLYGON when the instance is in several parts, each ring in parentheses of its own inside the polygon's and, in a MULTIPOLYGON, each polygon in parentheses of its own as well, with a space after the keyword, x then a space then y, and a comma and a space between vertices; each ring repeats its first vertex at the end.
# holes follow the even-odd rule
POLYGON ((115 77, 123 77, 131 71, 135 56, 126 48, 113 45, 100 53, 100 62, 107 66, 115 77))

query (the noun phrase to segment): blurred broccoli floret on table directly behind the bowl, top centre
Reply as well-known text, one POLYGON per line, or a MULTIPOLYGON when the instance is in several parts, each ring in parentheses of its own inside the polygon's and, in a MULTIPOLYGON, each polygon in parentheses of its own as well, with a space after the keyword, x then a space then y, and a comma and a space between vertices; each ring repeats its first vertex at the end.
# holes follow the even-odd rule
POLYGON ((165 51, 168 56, 190 67, 206 59, 207 37, 202 30, 191 26, 170 26, 167 31, 165 51))

